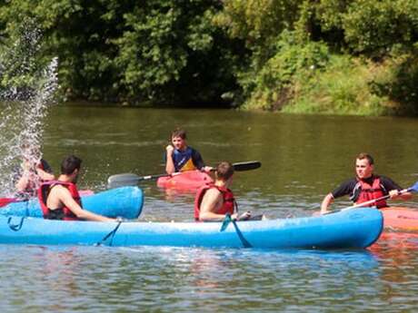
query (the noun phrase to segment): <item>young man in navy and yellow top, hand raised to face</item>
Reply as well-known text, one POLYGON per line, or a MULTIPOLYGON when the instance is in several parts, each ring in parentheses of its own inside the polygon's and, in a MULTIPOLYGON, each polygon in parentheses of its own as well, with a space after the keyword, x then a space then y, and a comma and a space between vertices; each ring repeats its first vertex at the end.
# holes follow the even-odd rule
POLYGON ((204 166, 204 160, 200 153, 186 142, 184 130, 177 129, 171 134, 171 144, 165 147, 165 171, 171 175, 178 171, 206 171, 212 170, 210 166, 204 166))

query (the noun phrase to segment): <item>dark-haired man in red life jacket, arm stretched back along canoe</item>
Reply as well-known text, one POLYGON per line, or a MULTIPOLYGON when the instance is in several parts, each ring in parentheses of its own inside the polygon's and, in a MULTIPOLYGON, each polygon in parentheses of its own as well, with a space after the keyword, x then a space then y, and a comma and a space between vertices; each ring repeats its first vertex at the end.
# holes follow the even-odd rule
POLYGON ((82 208, 75 183, 80 173, 81 159, 70 155, 61 163, 57 181, 46 181, 38 190, 44 218, 48 220, 114 221, 82 208))

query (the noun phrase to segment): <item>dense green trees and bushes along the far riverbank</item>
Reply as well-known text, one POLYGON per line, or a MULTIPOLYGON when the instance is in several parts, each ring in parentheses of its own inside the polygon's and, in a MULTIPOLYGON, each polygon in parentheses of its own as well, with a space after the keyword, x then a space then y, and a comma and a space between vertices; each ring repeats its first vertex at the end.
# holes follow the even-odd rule
POLYGON ((0 0, 0 46, 29 19, 68 98, 418 112, 418 0, 0 0))

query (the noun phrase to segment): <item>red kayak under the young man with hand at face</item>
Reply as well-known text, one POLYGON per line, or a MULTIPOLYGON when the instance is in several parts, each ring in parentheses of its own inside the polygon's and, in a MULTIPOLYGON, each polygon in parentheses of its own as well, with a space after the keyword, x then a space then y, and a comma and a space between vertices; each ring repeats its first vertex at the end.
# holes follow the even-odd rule
POLYGON ((196 191, 204 184, 212 182, 212 177, 204 171, 182 171, 173 176, 160 177, 157 186, 177 191, 196 191))

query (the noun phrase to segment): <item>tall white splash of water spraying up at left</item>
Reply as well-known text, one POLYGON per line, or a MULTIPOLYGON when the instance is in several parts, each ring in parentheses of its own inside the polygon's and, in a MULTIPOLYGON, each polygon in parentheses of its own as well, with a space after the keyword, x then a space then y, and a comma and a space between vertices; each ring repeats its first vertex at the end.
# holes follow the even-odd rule
POLYGON ((33 24, 26 23, 13 44, 0 47, 0 196, 15 190, 24 158, 40 161, 44 122, 58 88, 58 59, 41 64, 42 34, 33 24))

